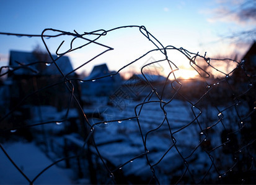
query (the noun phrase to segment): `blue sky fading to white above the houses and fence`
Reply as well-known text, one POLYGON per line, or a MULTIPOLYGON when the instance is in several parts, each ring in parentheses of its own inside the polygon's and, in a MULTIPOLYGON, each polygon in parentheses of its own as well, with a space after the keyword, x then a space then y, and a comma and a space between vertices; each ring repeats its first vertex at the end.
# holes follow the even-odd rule
MULTIPOLYGON (((229 9, 236 9, 237 4, 243 1, 1 0, 0 32, 41 34, 45 28, 55 28, 83 33, 123 25, 144 25, 164 46, 183 47, 202 55, 204 52, 208 55, 232 55, 232 52, 242 54, 249 45, 241 42, 238 44, 240 47, 237 47, 237 44, 219 36, 255 27, 255 20, 240 20, 235 15, 225 14, 227 4, 229 9)), ((149 46, 150 43, 141 36, 138 29, 114 31, 99 42, 114 47, 115 52, 100 57, 79 72, 90 72, 93 65, 103 62, 109 63, 110 70, 117 70, 148 49, 154 48, 149 46)), ((11 49, 32 51, 38 44, 43 48, 40 38, 0 35, 0 65, 6 64, 11 49)), ((55 46, 51 49, 55 51, 55 46)), ((86 62, 90 54, 97 54, 99 51, 98 47, 91 47, 86 48, 86 51, 70 54, 69 57, 73 67, 77 67, 86 62)))

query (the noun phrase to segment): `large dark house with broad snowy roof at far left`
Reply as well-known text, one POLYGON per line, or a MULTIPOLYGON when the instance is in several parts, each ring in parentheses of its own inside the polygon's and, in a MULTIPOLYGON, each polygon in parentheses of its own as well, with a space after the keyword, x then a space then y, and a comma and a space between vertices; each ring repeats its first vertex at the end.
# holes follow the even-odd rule
MULTIPOLYGON (((53 59, 57 59, 53 55, 53 59)), ((73 71, 68 57, 62 56, 51 64, 48 54, 42 52, 11 51, 9 73, 11 81, 10 107, 22 101, 23 105, 52 105, 61 110, 68 106, 70 92, 63 81, 63 75, 73 71), (49 86, 49 87, 48 87, 49 86), (48 88, 47 88, 48 87, 48 88), (66 103, 66 104, 65 104, 66 103)), ((68 78, 75 74, 71 73, 68 78)))

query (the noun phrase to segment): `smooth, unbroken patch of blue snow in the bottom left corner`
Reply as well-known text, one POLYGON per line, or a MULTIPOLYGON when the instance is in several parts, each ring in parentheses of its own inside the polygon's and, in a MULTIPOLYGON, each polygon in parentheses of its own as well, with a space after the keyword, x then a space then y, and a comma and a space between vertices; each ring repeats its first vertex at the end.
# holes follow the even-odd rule
MULTIPOLYGON (((7 142, 3 144, 3 147, 30 181, 33 181, 38 173, 53 163, 34 142, 7 142)), ((0 164, 0 184, 29 184, 29 181, 12 165, 2 150, 0 150, 0 164)), ((42 173, 34 184, 74 184, 71 180, 72 174, 71 170, 53 165, 42 173)))

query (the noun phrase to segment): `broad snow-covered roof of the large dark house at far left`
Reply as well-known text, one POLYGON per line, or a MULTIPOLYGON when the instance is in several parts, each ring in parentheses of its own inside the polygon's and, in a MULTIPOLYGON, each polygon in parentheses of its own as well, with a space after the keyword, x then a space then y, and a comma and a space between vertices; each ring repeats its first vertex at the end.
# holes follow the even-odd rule
MULTIPOLYGON (((33 52, 11 51, 9 65, 14 69, 14 75, 61 75, 55 64, 46 65, 52 62, 50 56, 46 54, 43 56, 43 59, 40 60, 33 52), (32 64, 33 62, 42 63, 32 64), (22 67, 22 65, 28 66, 22 67)), ((53 59, 57 59, 57 55, 53 55, 53 59)), ((60 57, 56 60, 56 64, 65 75, 73 70, 67 56, 60 57)), ((74 73, 71 75, 74 75, 74 73)))

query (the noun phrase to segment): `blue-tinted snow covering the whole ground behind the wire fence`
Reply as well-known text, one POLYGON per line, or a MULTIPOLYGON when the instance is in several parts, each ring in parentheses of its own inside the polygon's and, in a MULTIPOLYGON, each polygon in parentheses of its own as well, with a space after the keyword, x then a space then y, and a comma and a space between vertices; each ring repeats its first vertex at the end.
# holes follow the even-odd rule
MULTIPOLYGON (((190 171, 196 179, 200 180, 212 164, 210 156, 206 154, 202 146, 212 149, 223 144, 221 132, 224 126, 229 128, 231 121, 234 123, 239 121, 237 116, 232 117, 232 115, 237 115, 234 112, 235 109, 225 109, 225 107, 217 107, 217 109, 208 106, 200 110, 189 102, 177 99, 173 99, 164 107, 162 107, 163 104, 152 101, 153 98, 143 105, 139 105, 141 101, 124 100, 125 106, 120 110, 120 107, 107 104, 106 98, 94 98, 92 99, 94 104, 86 105, 84 112, 90 115, 89 123, 94 126, 92 137, 97 149, 94 145, 90 145, 90 150, 97 178, 107 179, 107 181, 111 180, 110 172, 113 171, 113 176, 121 173, 126 178, 132 179, 131 177, 136 176, 143 183, 148 183, 152 177, 150 168, 152 166, 159 183, 175 183, 172 181, 172 176, 182 176, 188 163, 190 163, 190 171), (100 118, 96 118, 97 115, 100 115, 100 118), (202 133, 208 126, 213 126, 207 129, 210 132, 202 133), (198 145, 200 147, 197 147, 198 145), (108 170, 100 161, 99 155, 107 163, 108 170), (139 155, 141 157, 138 157, 139 155)), ((243 105, 237 105, 236 110, 243 110, 242 114, 246 114, 243 105)), ((77 110, 71 109, 66 114, 66 110, 58 112, 54 107, 42 106, 34 107, 31 113, 32 119, 28 121, 29 124, 52 121, 52 123, 43 125, 44 128, 38 125, 33 126, 32 129, 38 134, 35 136, 37 144, 38 141, 41 144, 42 141, 48 143, 48 149, 42 152, 43 147, 39 148, 35 142, 5 142, 3 144, 12 160, 30 181, 58 158, 65 157, 63 148, 67 144, 73 149, 84 147, 84 141, 78 133, 62 132, 60 134, 65 130, 68 122, 64 121, 61 124, 58 121, 76 118, 77 110), (46 138, 43 138, 42 129, 48 132, 45 135, 46 138), (51 159, 46 157, 46 153, 51 156, 51 159)), ((242 114, 241 117, 243 117, 242 114)), ((239 129, 238 124, 232 126, 234 130, 239 129)), ((220 151, 221 149, 222 147, 220 151)), ((76 155, 76 150, 68 151, 68 156, 74 154, 76 155)), ((215 160, 226 164, 227 168, 234 165, 233 161, 228 159, 229 155, 211 155, 215 160)), ((76 179, 78 175, 74 173, 77 173, 77 161, 70 160, 69 162, 70 169, 53 165, 34 183, 90 183, 87 158, 81 158, 79 162, 81 165, 79 168, 87 175, 84 176, 87 180, 76 179)), ((2 150, 0 150, 0 164, 0 184, 29 184, 29 181, 12 165, 2 150)), ((219 174, 211 171, 208 176, 218 179, 219 174)), ((102 179, 98 183, 104 182, 102 179)), ((128 181, 128 183, 133 183, 133 181, 128 181)))

